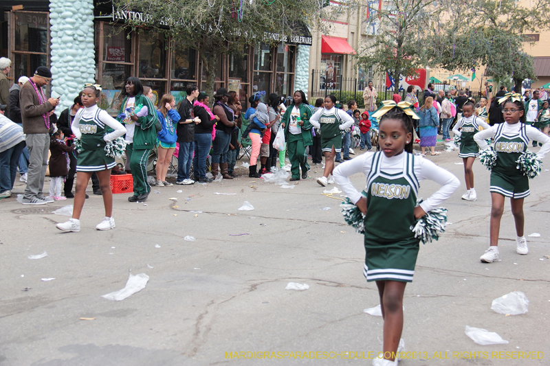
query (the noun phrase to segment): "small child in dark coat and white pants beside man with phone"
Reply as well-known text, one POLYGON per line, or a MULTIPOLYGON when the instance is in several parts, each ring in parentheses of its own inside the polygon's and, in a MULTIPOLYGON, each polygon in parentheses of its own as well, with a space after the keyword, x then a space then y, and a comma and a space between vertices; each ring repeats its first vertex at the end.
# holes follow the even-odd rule
POLYGON ((56 201, 66 200, 66 197, 61 196, 61 185, 65 182, 67 174, 69 174, 69 153, 73 147, 67 146, 67 137, 63 136, 62 130, 56 130, 50 139, 50 161, 48 161, 48 169, 50 170, 50 197, 56 201))

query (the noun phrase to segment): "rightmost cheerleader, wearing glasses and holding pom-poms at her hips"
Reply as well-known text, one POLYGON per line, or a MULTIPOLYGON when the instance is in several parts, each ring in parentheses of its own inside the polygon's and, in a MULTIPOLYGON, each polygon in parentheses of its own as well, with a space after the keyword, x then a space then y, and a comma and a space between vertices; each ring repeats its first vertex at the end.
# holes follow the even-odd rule
POLYGON ((523 236, 525 218, 523 199, 529 196, 529 178, 516 168, 516 160, 527 150, 529 139, 543 143, 537 153, 542 159, 550 150, 550 137, 525 124, 525 109, 521 95, 508 93, 500 98, 503 104, 505 123, 492 126, 476 133, 474 140, 482 150, 489 148, 485 139, 494 138, 496 164, 491 171, 491 223, 489 226, 490 247, 481 255, 481 262, 492 263, 498 260, 498 233, 500 218, 504 211, 504 198, 510 198, 511 213, 516 222, 516 253, 529 253, 527 240, 523 236))

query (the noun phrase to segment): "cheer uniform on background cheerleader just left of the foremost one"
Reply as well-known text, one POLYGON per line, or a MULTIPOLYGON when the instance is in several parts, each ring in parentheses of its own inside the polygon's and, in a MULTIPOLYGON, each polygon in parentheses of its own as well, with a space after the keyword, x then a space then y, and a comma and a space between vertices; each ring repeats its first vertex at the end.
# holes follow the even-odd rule
POLYGON ((336 107, 319 109, 309 119, 310 124, 321 129, 321 149, 326 152, 331 152, 333 146, 336 152, 342 152, 340 131, 350 128, 353 122, 353 117, 336 107))

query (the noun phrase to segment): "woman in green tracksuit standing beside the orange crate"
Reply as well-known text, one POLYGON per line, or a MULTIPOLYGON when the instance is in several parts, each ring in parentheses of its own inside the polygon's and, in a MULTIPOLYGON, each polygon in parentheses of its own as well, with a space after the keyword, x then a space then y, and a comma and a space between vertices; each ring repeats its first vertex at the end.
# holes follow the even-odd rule
POLYGON ((128 201, 143 202, 151 192, 147 183, 147 160, 157 142, 157 113, 153 102, 143 94, 138 78, 128 78, 121 95, 124 100, 117 120, 126 127, 126 159, 130 161, 133 178, 133 196, 129 196, 128 201))

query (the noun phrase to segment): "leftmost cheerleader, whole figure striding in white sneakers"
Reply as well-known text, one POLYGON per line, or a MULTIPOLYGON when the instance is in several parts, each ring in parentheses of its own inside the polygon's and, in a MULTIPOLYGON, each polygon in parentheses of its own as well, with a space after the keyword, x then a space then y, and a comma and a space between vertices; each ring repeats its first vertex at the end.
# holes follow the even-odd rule
POLYGON ((80 231, 80 214, 86 196, 86 187, 91 174, 96 172, 99 179, 105 218, 96 229, 109 230, 115 228, 113 219, 113 193, 109 181, 111 169, 116 165, 115 158, 106 155, 104 147, 107 141, 121 137, 126 133, 126 128, 107 111, 98 108, 101 87, 92 85, 85 87, 82 94, 84 109, 80 109, 74 116, 71 126, 74 136, 80 140, 82 151, 78 154, 76 163, 76 192, 74 194, 73 216, 67 222, 60 222, 56 226, 62 231, 80 231), (109 131, 113 129, 112 132, 109 131))

